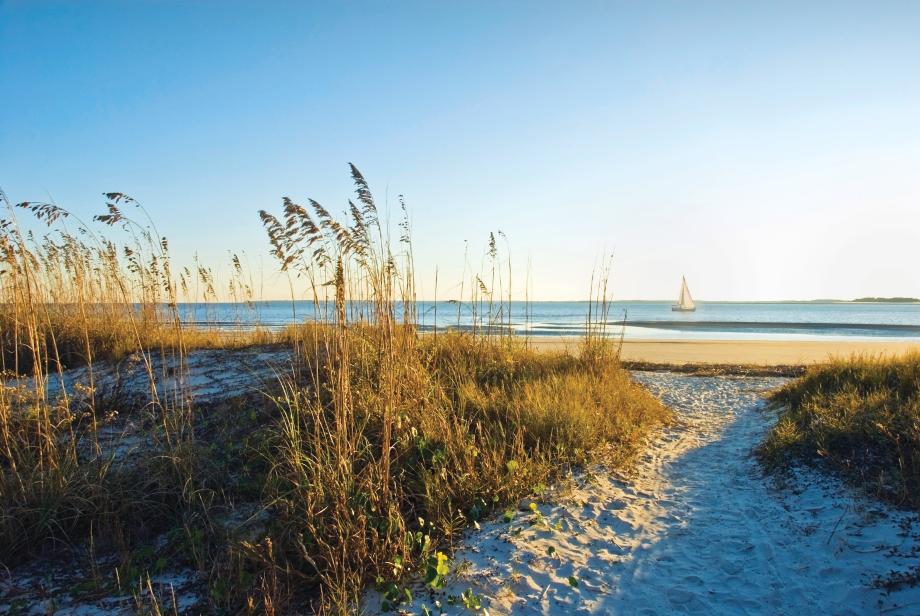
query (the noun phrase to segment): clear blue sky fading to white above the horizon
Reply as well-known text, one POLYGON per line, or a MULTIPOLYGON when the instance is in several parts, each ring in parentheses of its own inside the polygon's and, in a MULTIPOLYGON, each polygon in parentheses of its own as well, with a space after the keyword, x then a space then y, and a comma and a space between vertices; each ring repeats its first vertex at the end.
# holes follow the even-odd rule
POLYGON ((920 296, 918 33, 918 2, 0 0, 0 187, 127 192, 267 297, 257 210, 341 211, 347 162, 406 196, 423 297, 498 229, 538 299, 608 252, 620 298, 920 296))

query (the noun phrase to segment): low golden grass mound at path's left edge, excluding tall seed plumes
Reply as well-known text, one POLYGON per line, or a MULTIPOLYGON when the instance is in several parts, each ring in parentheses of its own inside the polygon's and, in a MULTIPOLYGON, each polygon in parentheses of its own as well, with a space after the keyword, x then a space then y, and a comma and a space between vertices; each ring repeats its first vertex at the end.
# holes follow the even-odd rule
POLYGON ((365 351, 350 358, 347 415, 334 395, 287 389, 266 454, 271 566, 337 610, 368 581, 424 572, 471 522, 573 466, 624 462, 667 418, 615 362, 461 334, 406 340, 384 396, 369 334, 348 343, 365 351))

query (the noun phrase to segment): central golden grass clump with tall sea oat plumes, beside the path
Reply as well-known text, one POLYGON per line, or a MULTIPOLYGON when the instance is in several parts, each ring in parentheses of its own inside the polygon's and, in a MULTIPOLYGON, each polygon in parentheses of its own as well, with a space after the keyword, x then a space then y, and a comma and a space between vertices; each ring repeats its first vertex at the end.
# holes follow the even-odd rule
POLYGON ((279 512, 277 545, 305 538, 283 566, 315 579, 336 611, 368 577, 392 579, 397 559, 400 574, 439 587, 446 555, 434 546, 596 453, 625 459, 666 416, 600 339, 573 357, 507 335, 495 235, 488 278, 467 286, 478 325, 420 336, 405 308, 415 305, 410 239, 391 248, 354 167, 352 179, 347 223, 315 201, 260 212, 279 268, 296 269, 315 312, 329 315, 298 344, 323 385, 291 383, 276 399, 267 496, 279 512))

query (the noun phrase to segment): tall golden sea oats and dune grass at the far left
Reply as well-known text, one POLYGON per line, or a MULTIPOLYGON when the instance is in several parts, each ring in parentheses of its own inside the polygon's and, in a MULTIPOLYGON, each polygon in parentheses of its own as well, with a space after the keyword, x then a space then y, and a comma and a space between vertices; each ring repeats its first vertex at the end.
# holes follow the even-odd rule
MULTIPOLYGON (((89 544, 94 584, 128 592, 166 564, 205 571, 220 535, 212 520, 226 481, 197 440, 201 422, 181 378, 187 353, 269 337, 187 325, 182 306, 198 299, 191 272, 173 264, 137 201, 104 199, 105 213, 88 224, 0 193, 0 563, 79 558, 89 544), (148 385, 131 400, 107 389, 122 359, 148 385), (65 387, 73 368, 83 380, 65 387), (144 453, 130 462, 118 437, 129 422, 142 429, 132 448, 144 453), (143 558, 138 547, 163 532, 192 549, 170 550, 168 563, 143 558), (100 573, 99 552, 117 556, 107 567, 114 577, 100 573)), ((200 278, 213 297, 206 268, 200 278)))

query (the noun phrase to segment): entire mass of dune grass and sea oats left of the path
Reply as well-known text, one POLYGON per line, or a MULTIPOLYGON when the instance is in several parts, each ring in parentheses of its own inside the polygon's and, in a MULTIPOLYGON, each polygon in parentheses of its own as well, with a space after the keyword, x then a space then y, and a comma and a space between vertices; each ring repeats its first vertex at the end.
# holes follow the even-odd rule
MULTIPOLYGON (((467 287, 475 333, 419 335, 407 325, 408 224, 394 250, 367 183, 352 175, 347 223, 315 202, 260 213, 292 298, 324 315, 280 334, 184 325, 182 301, 215 300, 214 278, 174 266, 152 223, 128 217, 142 209, 125 195, 108 194, 98 217, 124 231, 122 244, 79 222, 69 232, 56 206, 5 203, 0 367, 30 379, 0 386, 0 562, 82 554, 92 579, 74 592, 130 591, 151 613, 169 611, 151 576, 180 567, 198 572, 214 612, 340 613, 368 584, 396 606, 411 596, 408 579, 443 586, 468 525, 574 466, 624 463, 667 420, 596 335, 605 282, 580 354, 536 353, 507 334, 510 264, 494 236, 489 271, 467 287), (21 230, 26 211, 49 225, 46 236, 21 230), (197 346, 265 341, 294 358, 267 394, 196 405, 177 379, 163 389, 168 375, 153 368, 156 354, 181 365, 197 346), (125 353, 147 369, 140 404, 94 395, 94 364, 125 353), (78 364, 89 368, 86 391, 49 398, 43 384, 78 364), (100 436, 126 420, 143 427, 143 455, 130 463, 100 436), (244 523, 227 523, 241 511, 244 523), (114 573, 97 565, 103 554, 114 573)), ((229 292, 246 301, 251 288, 234 258, 229 292)), ((471 591, 458 601, 479 605, 471 591)))

